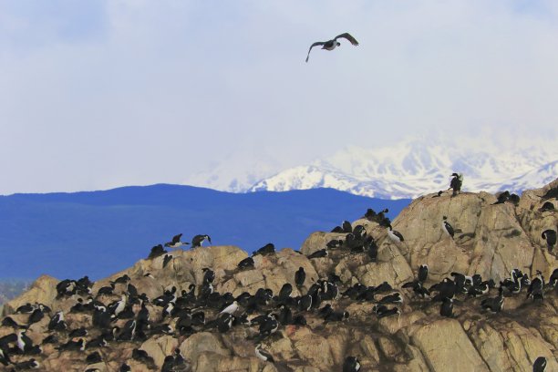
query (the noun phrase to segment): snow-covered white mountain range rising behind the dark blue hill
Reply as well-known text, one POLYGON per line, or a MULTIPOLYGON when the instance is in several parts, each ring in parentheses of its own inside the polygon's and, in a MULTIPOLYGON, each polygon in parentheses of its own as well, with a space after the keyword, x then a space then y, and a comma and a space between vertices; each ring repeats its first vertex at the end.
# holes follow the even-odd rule
POLYGON ((234 180, 234 188, 223 189, 243 192, 332 188, 375 198, 404 199, 448 189, 449 175, 454 171, 464 175, 463 191, 521 192, 558 177, 558 149, 491 146, 467 150, 425 140, 408 140, 373 150, 347 147, 325 159, 263 176, 252 185, 234 180))

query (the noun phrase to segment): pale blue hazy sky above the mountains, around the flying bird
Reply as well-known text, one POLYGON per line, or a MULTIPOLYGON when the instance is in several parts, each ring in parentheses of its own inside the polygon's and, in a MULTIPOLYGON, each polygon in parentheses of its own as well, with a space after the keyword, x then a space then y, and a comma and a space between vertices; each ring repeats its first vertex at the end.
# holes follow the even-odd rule
POLYGON ((0 194, 436 132, 557 139, 557 81, 555 1, 0 0, 0 194), (304 62, 342 32, 361 45, 304 62))

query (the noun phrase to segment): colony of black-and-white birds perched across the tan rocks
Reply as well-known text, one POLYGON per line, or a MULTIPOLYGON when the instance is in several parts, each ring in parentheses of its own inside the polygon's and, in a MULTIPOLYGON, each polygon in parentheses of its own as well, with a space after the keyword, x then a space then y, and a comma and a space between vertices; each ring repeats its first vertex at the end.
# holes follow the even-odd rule
MULTIPOLYGON (((454 173, 450 183, 453 196, 459 194, 462 176, 454 173)), ((549 191, 551 192, 551 191, 549 191)), ((436 196, 440 196, 440 193, 436 196)), ((435 197, 436 197, 435 196, 435 197)), ((502 199, 502 202, 514 202, 511 195, 502 199)), ((500 198, 499 198, 500 202, 500 198)), ((553 204, 545 204, 546 209, 553 209, 553 204)), ((401 233, 393 230, 386 216, 388 211, 374 212, 368 210, 364 216, 368 221, 377 222, 387 230, 387 236, 394 243, 404 241, 401 233)), ((443 232, 453 237, 455 230, 447 218, 441 223, 443 232)), ((371 262, 377 261, 377 243, 371 235, 367 234, 364 226, 350 222, 343 222, 332 230, 334 233, 345 233, 345 239, 334 239, 326 244, 324 249, 308 255, 309 259, 325 257, 330 252, 365 253, 371 262)), ((174 236, 169 243, 159 244, 151 249, 148 259, 152 260, 163 256, 163 269, 173 259, 167 248, 179 248, 189 243, 181 242, 182 234, 174 236)), ((542 233, 546 239, 549 251, 556 244, 556 232, 549 230, 542 233)), ((205 241, 211 243, 209 235, 196 235, 191 239, 191 247, 201 247, 205 241)), ((203 248, 202 248, 203 249, 203 248)), ((256 255, 270 255, 275 253, 273 243, 264 245, 255 251, 252 257, 247 257, 237 265, 238 271, 254 268, 253 257, 256 255)), ((152 280, 152 274, 145 274, 152 280)), ((526 298, 532 302, 542 302, 544 294, 558 288, 558 269, 553 271, 548 282, 545 282, 542 273, 537 272, 532 278, 522 273, 519 269, 511 271, 510 277, 498 285, 498 295, 489 297, 491 288, 496 287, 493 280, 482 278, 480 274, 468 276, 461 273, 451 273, 437 284, 427 287, 429 267, 422 264, 418 267, 418 276, 414 280, 402 285, 405 290, 412 291, 418 301, 439 303, 439 315, 456 317, 454 305, 465 301, 464 298, 483 296, 480 302, 480 311, 500 313, 506 296, 519 295, 526 292, 526 298), (526 291, 525 291, 526 289, 526 291), (505 294, 505 295, 504 295, 505 294), (461 297, 459 299, 458 297, 461 297)), ((87 329, 79 327, 69 329, 63 311, 53 311, 42 304, 26 304, 15 310, 15 314, 28 314, 26 324, 17 324, 15 320, 6 316, 2 320, 3 327, 12 327, 14 333, 0 338, 0 364, 11 367, 10 370, 20 371, 39 367, 35 357, 43 352, 47 344, 57 345, 57 351, 78 351, 84 353, 87 365, 103 361, 99 350, 109 345, 120 342, 144 342, 151 336, 173 335, 191 336, 197 332, 210 331, 227 333, 233 327, 248 327, 250 340, 253 341, 254 354, 265 363, 275 363, 274 357, 263 348, 263 344, 270 337, 286 325, 305 326, 306 317, 313 315, 323 319, 324 323, 344 322, 350 314, 341 308, 334 308, 332 300, 348 299, 353 302, 370 303, 372 314, 378 319, 400 315, 398 307, 403 303, 403 297, 393 287, 384 282, 377 286, 354 284, 344 286, 336 274, 329 274, 315 283, 309 283, 305 269, 300 267, 294 273, 294 284, 300 295, 293 296, 293 285, 285 283, 279 293, 274 294, 268 288, 259 288, 255 294, 244 292, 237 296, 231 293, 220 294, 214 290, 213 281, 215 273, 210 268, 202 269, 202 283, 190 284, 188 290, 177 291, 176 286, 164 290, 160 296, 149 298, 138 289, 128 274, 118 277, 109 285, 100 287, 97 294, 92 293, 93 283, 84 276, 79 280, 62 280, 57 284, 57 298, 73 301, 69 313, 90 316, 92 326, 87 329), (308 288, 307 291, 304 291, 308 288), (305 292, 305 293, 304 293, 305 292), (304 294, 303 294, 304 293, 304 294), (115 296, 119 296, 118 299, 115 296), (112 299, 104 302, 102 299, 112 299), (154 311, 159 307, 160 311, 154 311), (155 316, 157 315, 157 316, 155 316), (48 335, 40 345, 35 345, 26 336, 30 325, 40 322, 49 316, 47 325, 48 335), (118 324, 118 325, 117 325, 118 324), (25 356, 29 359, 14 362, 12 356, 21 360, 25 356)), ((134 348, 131 357, 140 363, 154 368, 151 356, 140 348, 134 348)), ((187 356, 181 355, 179 347, 166 356, 161 368, 162 372, 189 370, 191 366, 187 356)), ((546 367, 546 359, 541 356, 535 360, 533 371, 541 372, 546 367)), ((357 356, 346 356, 343 371, 356 372, 360 369, 357 356)), ((98 369, 88 368, 86 372, 98 369)), ((119 367, 119 371, 130 371, 127 363, 119 367)))

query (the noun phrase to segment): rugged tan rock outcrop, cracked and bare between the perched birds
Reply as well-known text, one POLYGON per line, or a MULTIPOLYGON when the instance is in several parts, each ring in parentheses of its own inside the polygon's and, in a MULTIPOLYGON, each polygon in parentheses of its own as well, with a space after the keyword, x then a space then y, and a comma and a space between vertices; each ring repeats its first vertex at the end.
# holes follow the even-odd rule
MULTIPOLYGON (((521 200, 498 203, 489 193, 449 193, 425 195, 412 202, 391 223, 402 233, 404 241, 394 243, 387 237, 387 229, 377 222, 365 219, 353 222, 353 227, 363 225, 378 246, 377 262, 371 262, 367 253, 351 253, 336 248, 323 258, 308 259, 306 255, 325 248, 333 239, 345 239, 344 233, 313 233, 301 247, 300 253, 284 249, 278 253, 253 256, 254 267, 240 270, 237 264, 247 253, 234 246, 199 247, 188 251, 171 252, 173 258, 163 268, 164 257, 141 260, 129 269, 100 280, 92 287, 97 294, 102 286, 127 274, 130 283, 146 294, 151 302, 164 290, 177 288, 177 293, 188 291, 191 284, 202 284, 205 267, 215 273, 215 291, 238 296, 244 292, 255 294, 259 288, 269 288, 278 294, 285 283, 293 285, 291 296, 306 294, 319 279, 331 274, 339 276, 340 292, 353 284, 376 286, 387 282, 403 297, 399 306, 401 315, 377 319, 373 301, 356 301, 339 295, 325 301, 336 311, 347 311, 349 318, 341 322, 325 322, 317 311, 302 312, 307 325, 281 325, 272 336, 263 339, 263 349, 274 356, 275 363, 263 362, 254 354, 258 327, 236 325, 225 333, 200 327, 192 335, 159 334, 147 340, 111 341, 105 347, 86 347, 86 351, 57 351, 58 344, 43 345, 43 352, 34 356, 40 370, 76 370, 98 368, 99 371, 118 371, 127 362, 133 371, 161 370, 165 356, 176 349, 186 358, 181 369, 192 371, 339 371, 346 356, 356 356, 361 371, 531 371, 538 356, 548 361, 547 371, 558 370, 558 294, 557 289, 547 288, 542 304, 526 299, 526 292, 505 294, 503 310, 491 314, 481 310, 482 299, 494 297, 498 291, 478 298, 458 294, 454 304, 454 318, 439 315, 439 302, 418 298, 410 289, 401 285, 417 276, 418 265, 428 263, 427 284, 438 283, 451 277, 452 272, 481 274, 483 279, 493 279, 498 284, 510 277, 512 269, 534 277, 542 272, 546 281, 558 267, 558 248, 550 253, 541 233, 546 229, 556 231, 558 211, 541 212, 543 200, 551 189, 558 188, 558 180, 540 190, 525 191, 521 200), (443 217, 456 230, 453 238, 442 230, 443 217), (294 273, 303 267, 305 283, 297 288, 294 273), (146 274, 151 274, 146 276, 146 274), (131 359, 132 349, 145 350, 150 362, 131 359), (85 358, 98 351, 102 362, 87 366, 85 358)), ((147 255, 147 254, 146 254, 147 255)), ((69 329, 88 328, 92 340, 100 331, 92 326, 88 313, 71 313, 78 295, 57 298, 56 284, 52 277, 42 276, 33 287, 4 307, 17 324, 27 323, 29 315, 14 315, 15 309, 26 303, 41 303, 53 313, 31 325, 26 332, 35 344, 46 336, 56 334, 59 342, 67 342, 67 332, 48 332, 51 315, 62 310, 69 329)), ((429 286, 429 285, 426 285, 429 286)), ((104 304, 119 299, 126 290, 125 284, 116 284, 113 295, 97 297, 104 304)), ((387 293, 386 293, 387 294, 387 293)), ((377 300, 380 295, 377 295, 377 300)), ((87 298, 82 296, 82 298, 87 298)), ((273 304, 273 302, 272 302, 273 304)), ((390 306, 391 307, 391 306, 390 306)), ((162 318, 160 306, 149 304, 150 317, 157 324, 174 325, 176 319, 162 318)), ((135 309, 136 313, 139 310, 135 309)), ((262 313, 276 311, 274 305, 264 306, 262 313)), ((218 311, 207 310, 206 320, 217 316, 218 311)), ((293 311, 293 313, 298 313, 293 311)), ((257 313, 260 314, 260 313, 257 313)), ((252 316, 252 315, 251 315, 252 316)), ((120 328, 125 319, 114 322, 120 328)), ((0 337, 15 330, 0 326, 0 337)), ((29 356, 13 355, 19 362, 29 356)), ((1 368, 1 367, 0 367, 1 368)), ((10 367, 5 367, 10 370, 10 367)))

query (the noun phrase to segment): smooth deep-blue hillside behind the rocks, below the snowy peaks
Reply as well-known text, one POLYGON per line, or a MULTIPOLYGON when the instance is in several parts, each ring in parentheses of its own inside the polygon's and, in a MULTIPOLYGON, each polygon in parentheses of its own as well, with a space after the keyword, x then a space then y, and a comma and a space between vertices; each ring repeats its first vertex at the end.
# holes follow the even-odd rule
POLYGON ((340 216, 355 220, 367 208, 389 208, 393 218, 409 202, 331 189, 235 194, 165 184, 0 196, 0 279, 99 278, 146 257, 175 233, 188 239, 208 233, 214 244, 248 252, 269 242, 298 249, 340 216))

